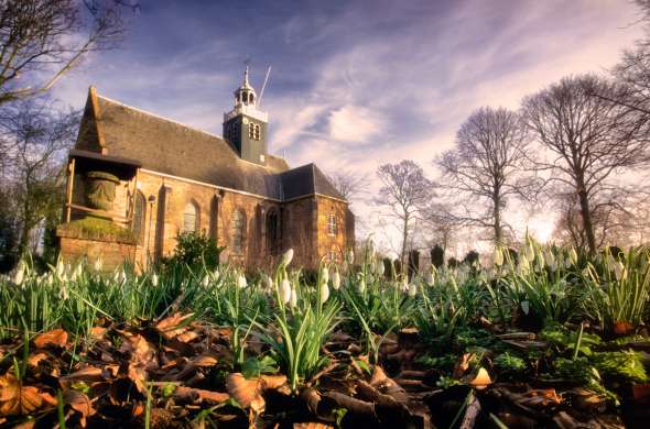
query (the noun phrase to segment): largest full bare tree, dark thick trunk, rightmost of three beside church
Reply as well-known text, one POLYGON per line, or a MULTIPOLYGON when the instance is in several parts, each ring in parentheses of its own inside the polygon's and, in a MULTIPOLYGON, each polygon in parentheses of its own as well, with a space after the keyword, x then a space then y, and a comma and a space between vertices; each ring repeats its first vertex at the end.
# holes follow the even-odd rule
POLYGON ((523 114, 549 156, 537 161, 551 173, 550 180, 572 189, 576 196, 589 252, 598 246, 594 215, 596 201, 622 185, 615 174, 635 170, 650 160, 647 140, 640 132, 644 119, 638 111, 613 103, 594 94, 614 98, 618 87, 603 78, 567 77, 527 97, 523 114))

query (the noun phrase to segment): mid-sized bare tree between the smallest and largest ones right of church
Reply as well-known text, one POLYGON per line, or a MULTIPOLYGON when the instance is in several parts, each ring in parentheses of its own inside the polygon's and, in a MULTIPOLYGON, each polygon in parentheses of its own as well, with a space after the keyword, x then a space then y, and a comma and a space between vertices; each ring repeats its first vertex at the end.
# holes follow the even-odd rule
POLYGON ((455 146, 435 161, 441 184, 456 207, 449 216, 491 229, 495 243, 503 243, 503 209, 531 186, 521 175, 528 144, 526 124, 517 113, 489 107, 472 113, 455 146))

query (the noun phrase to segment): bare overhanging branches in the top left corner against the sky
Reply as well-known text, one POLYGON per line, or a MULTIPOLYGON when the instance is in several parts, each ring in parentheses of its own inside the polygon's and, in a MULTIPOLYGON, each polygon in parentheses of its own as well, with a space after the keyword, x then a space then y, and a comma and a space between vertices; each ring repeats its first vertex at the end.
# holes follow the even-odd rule
POLYGON ((48 90, 89 52, 115 46, 128 0, 0 2, 0 103, 48 90))

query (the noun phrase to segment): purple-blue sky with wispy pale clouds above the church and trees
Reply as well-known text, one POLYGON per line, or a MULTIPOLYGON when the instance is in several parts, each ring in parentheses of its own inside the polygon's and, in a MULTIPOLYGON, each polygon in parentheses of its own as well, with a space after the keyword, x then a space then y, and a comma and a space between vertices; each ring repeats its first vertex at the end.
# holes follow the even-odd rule
MULTIPOLYGON (((481 106, 517 109, 564 76, 608 74, 642 34, 631 0, 140 0, 119 50, 93 53, 54 89, 82 107, 100 95, 215 134, 243 62, 269 112, 270 152, 291 166, 354 172, 410 158, 431 177, 481 106)), ((353 201, 357 230, 378 211, 353 201)), ((521 218, 521 213, 511 213, 521 218)), ((541 239, 546 213, 526 218, 541 239)), ((388 248, 396 234, 376 238, 388 248)))

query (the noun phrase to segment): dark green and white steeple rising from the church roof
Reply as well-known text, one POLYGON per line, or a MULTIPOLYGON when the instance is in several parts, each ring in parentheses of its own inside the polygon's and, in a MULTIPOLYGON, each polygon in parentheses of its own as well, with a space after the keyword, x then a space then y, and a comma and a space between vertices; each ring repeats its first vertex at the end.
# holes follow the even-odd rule
POLYGON ((235 90, 235 107, 224 114, 224 139, 230 142, 242 160, 266 165, 268 116, 257 108, 258 96, 248 80, 235 90))

